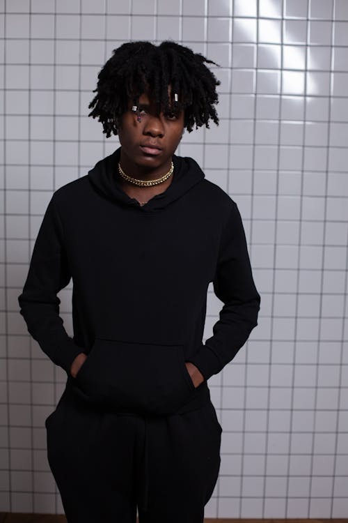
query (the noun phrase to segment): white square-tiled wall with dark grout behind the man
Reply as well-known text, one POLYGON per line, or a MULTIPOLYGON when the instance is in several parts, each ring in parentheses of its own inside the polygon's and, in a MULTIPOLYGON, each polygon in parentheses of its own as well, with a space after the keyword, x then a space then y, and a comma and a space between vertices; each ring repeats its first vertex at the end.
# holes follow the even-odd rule
MULTIPOLYGON (((260 325, 209 380, 223 425, 206 517, 348 517, 348 0, 1 0, 0 510, 60 512, 45 417, 64 375, 17 296, 52 191, 111 153, 88 119, 129 39, 219 62, 221 123, 184 135, 239 205, 260 325), (3 38, 4 37, 4 38, 3 38)), ((72 333, 71 288, 60 293, 72 333)), ((209 289, 205 337, 221 303, 209 289)))

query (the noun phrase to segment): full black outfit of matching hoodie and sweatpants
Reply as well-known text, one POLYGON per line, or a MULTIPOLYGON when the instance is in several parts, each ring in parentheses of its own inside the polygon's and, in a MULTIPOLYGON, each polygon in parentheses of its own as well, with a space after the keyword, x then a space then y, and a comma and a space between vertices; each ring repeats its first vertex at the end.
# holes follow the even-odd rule
POLYGON ((207 379, 257 325, 260 296, 237 205, 194 160, 173 156, 171 185, 141 206, 120 186, 119 159, 120 149, 54 192, 18 297, 29 333, 68 374, 47 418, 49 463, 69 523, 111 521, 116 510, 131 523, 134 495, 144 523, 148 511, 151 523, 171 522, 166 503, 175 521, 185 510, 200 523, 220 464, 207 379), (57 297, 70 278, 73 338, 57 297), (209 282, 223 308, 203 344, 209 282), (197 388, 186 361, 205 378, 197 388), (140 467, 139 448, 140 476, 129 469, 140 467), (125 497, 134 478, 140 490, 125 497))

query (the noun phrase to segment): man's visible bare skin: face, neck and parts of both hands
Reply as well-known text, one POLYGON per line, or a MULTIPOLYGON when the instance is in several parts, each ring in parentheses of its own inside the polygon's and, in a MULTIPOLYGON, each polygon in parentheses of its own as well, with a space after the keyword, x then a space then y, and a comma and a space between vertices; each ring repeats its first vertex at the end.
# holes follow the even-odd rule
MULTIPOLYGON (((168 93, 171 93, 170 87, 168 93)), ((118 121, 120 164, 123 171, 132 178, 154 180, 171 168, 172 156, 184 130, 184 112, 177 115, 160 112, 155 101, 151 100, 147 93, 143 93, 139 98, 139 110, 141 122, 137 121, 138 114, 132 111, 132 103, 129 102, 129 110, 122 114, 118 121)), ((173 176, 170 176, 163 183, 153 187, 138 187, 118 175, 122 190, 139 202, 148 202, 155 195, 164 192, 171 185, 172 179, 173 176)), ((87 357, 81 352, 74 359, 70 367, 72 377, 77 376, 87 357)), ((193 385, 198 387, 204 381, 203 374, 193 363, 187 361, 185 365, 193 385)))

